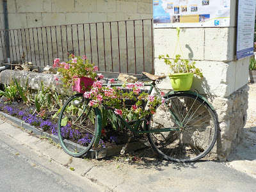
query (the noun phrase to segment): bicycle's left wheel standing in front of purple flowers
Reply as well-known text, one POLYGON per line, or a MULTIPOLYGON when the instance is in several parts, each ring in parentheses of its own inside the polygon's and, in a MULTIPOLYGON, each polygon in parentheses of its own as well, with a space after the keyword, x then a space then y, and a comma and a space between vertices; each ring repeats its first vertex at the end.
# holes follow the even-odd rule
POLYGON ((58 120, 58 138, 63 150, 74 157, 86 154, 95 140, 97 122, 95 111, 88 106, 83 94, 69 97, 58 120))

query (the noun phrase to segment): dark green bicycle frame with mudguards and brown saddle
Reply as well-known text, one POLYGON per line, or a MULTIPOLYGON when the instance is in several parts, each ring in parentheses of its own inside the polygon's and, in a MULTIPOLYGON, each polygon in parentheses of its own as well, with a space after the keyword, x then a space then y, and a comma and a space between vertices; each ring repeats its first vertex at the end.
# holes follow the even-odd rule
MULTIPOLYGON (((122 84, 103 84, 103 86, 122 86, 122 84)), ((161 93, 159 92, 159 88, 157 88, 156 86, 156 82, 153 81, 152 83, 145 83, 145 86, 150 86, 150 89, 148 90, 148 94, 151 94, 153 90, 156 91, 157 96, 161 97, 161 93)), ((191 92, 191 91, 185 91, 185 92, 168 92, 166 93, 163 97, 165 99, 167 99, 168 97, 170 97, 170 95, 173 95, 174 93, 188 93, 191 95, 195 95, 196 97, 200 97, 200 99, 204 100, 204 102, 206 102, 209 107, 214 110, 213 106, 207 101, 207 99, 205 99, 204 97, 202 97, 202 95, 199 95, 198 93, 195 92, 191 92)), ((147 105, 147 104, 146 104, 147 105)), ((166 102, 164 102, 164 105, 167 107, 166 102)), ((142 134, 142 133, 150 133, 150 132, 167 132, 167 131, 179 131, 180 127, 183 126, 184 122, 181 122, 179 120, 179 118, 175 115, 175 113, 173 113, 173 111, 171 109, 168 109, 170 111, 170 114, 172 115, 173 119, 175 120, 176 124, 178 125, 177 128, 164 128, 164 129, 151 129, 151 130, 146 130, 146 124, 147 124, 147 119, 145 118, 141 118, 138 120, 132 120, 130 122, 126 122, 125 119, 121 116, 121 115, 116 115, 118 116, 118 118, 122 121, 122 123, 125 125, 125 127, 127 127, 127 129, 129 129, 131 132, 134 132, 136 134, 142 134), (140 126, 140 124, 144 122, 143 124, 143 131, 138 130, 138 127, 140 126), (131 125, 134 125, 134 128, 131 127, 131 125)), ((93 147, 97 147, 97 145, 99 144, 99 140, 100 140, 100 136, 101 136, 101 131, 102 131, 102 118, 101 118, 101 112, 99 108, 95 109, 95 113, 97 116, 100 116, 100 121, 96 122, 97 125, 97 132, 96 132, 96 136, 95 136, 95 141, 93 143, 93 147)))

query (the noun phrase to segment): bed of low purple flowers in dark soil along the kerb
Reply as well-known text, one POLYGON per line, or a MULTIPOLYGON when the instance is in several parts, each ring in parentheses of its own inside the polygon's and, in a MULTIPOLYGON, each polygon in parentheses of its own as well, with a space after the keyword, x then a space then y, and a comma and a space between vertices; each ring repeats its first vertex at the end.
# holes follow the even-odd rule
MULTIPOLYGON (((5 99, 1 99, 0 101, 0 111, 6 113, 10 116, 14 116, 15 118, 19 118, 23 122, 26 122, 30 125, 35 126, 38 129, 42 129, 43 131, 53 134, 55 136, 58 135, 57 131, 57 120, 52 119, 51 113, 40 114, 34 113, 36 110, 35 105, 27 105, 23 102, 6 102, 5 99), (44 116, 44 117, 42 117, 44 116)), ((64 128, 65 134, 67 134, 70 138, 76 137, 77 132, 74 129, 68 129, 68 125, 64 128)), ((106 148, 106 147, 115 147, 117 145, 123 145, 127 142, 129 134, 127 132, 115 131, 111 127, 107 126, 102 129, 102 138, 100 139, 100 145, 97 148, 106 148)), ((143 136, 135 136, 132 138, 131 142, 144 140, 143 136)), ((81 143, 86 142, 86 138, 81 139, 81 143)))

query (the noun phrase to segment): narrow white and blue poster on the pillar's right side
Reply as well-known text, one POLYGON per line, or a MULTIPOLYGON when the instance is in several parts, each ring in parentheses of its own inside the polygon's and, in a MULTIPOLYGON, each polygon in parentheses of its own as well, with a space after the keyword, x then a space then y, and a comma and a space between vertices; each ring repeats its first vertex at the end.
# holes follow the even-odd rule
POLYGON ((255 0, 239 0, 237 14, 237 60, 253 55, 255 0))

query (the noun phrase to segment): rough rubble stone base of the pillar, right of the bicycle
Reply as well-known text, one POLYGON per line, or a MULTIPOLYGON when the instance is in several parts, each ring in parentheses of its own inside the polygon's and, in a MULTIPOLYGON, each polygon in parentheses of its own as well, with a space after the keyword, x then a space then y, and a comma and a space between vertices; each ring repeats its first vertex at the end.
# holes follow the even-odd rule
POLYGON ((220 124, 217 138, 218 159, 225 161, 237 143, 243 139, 243 127, 246 123, 249 86, 244 85, 227 97, 204 95, 214 106, 220 124))

